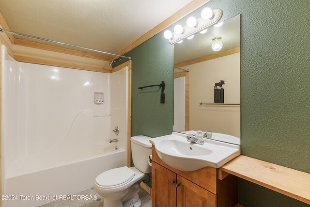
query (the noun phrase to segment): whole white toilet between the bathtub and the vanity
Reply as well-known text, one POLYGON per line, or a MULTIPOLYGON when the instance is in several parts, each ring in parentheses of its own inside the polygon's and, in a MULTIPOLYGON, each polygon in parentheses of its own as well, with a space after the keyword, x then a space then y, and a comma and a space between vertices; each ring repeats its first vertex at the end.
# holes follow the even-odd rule
POLYGON ((148 157, 152 154, 150 137, 131 137, 131 154, 135 167, 105 171, 95 179, 94 190, 104 198, 104 207, 140 207, 140 182, 151 173, 148 157))

